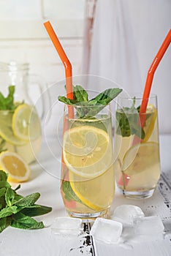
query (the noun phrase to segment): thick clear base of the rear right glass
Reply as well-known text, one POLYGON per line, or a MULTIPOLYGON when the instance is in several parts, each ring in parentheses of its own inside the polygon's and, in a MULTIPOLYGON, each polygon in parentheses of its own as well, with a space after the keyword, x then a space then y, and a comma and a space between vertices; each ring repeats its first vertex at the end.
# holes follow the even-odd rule
POLYGON ((131 199, 143 199, 143 198, 152 197, 154 190, 155 189, 150 189, 148 191, 127 191, 127 190, 120 189, 121 193, 125 197, 131 198, 131 199))

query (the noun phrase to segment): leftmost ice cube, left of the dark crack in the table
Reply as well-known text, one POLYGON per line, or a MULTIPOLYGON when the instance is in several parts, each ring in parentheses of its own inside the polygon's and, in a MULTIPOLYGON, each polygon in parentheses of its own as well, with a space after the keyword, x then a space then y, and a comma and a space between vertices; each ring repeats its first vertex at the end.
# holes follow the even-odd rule
POLYGON ((51 225, 51 230, 55 234, 79 235, 82 220, 71 217, 58 217, 51 225))

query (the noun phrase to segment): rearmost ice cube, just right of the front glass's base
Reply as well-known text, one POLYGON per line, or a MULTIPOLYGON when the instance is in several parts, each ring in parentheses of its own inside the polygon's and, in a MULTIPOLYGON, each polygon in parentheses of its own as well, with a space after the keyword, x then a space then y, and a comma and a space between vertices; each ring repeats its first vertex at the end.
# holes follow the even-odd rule
POLYGON ((133 225, 134 218, 142 218, 144 216, 140 207, 125 204, 115 208, 111 218, 126 225, 133 225))

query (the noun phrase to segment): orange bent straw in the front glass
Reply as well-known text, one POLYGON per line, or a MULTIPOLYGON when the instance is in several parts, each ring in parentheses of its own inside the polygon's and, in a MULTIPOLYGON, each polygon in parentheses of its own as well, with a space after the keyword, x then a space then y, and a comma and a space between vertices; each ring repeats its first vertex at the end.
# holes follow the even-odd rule
MULTIPOLYGON (((58 40, 58 37, 53 30, 52 25, 50 24, 50 21, 46 21, 44 23, 45 29, 47 30, 47 33, 50 36, 50 39, 53 42, 53 45, 55 46, 59 57, 61 58, 62 63, 64 64, 65 68, 65 75, 66 75, 66 97, 69 99, 73 99, 73 88, 72 88, 72 64, 70 63, 69 59, 66 56, 66 53, 64 52, 64 49, 61 46, 61 43, 58 40)), ((72 106, 68 106, 68 115, 69 118, 73 118, 74 111, 72 106)))

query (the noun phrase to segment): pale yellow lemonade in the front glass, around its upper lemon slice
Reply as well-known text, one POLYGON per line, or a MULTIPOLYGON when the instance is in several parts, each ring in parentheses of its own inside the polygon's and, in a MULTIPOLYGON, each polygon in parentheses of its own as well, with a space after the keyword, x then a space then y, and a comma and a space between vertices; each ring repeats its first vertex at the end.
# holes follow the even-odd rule
MULTIPOLYGON (((69 121, 73 126, 73 121, 69 121)), ((74 127, 79 126, 94 126, 99 129, 106 130, 108 135, 112 140, 112 129, 111 129, 111 119, 103 118, 94 121, 84 121, 83 119, 75 121, 74 127)), ((113 156, 113 150, 110 151, 111 156, 113 156)), ((112 157, 113 158, 113 157, 112 157)), ((72 193, 75 194, 74 191, 72 193)), ((96 176, 95 178, 84 178, 77 176, 72 173, 66 165, 63 163, 61 170, 61 195, 64 200, 64 205, 66 211, 72 216, 72 213, 76 214, 95 214, 99 211, 106 211, 110 208, 113 202, 113 196, 115 193, 115 176, 114 176, 114 165, 113 162, 109 165, 107 170, 96 176), (68 181, 72 187, 77 189, 77 196, 80 202, 77 200, 68 200, 67 195, 63 190, 64 182, 68 181)), ((67 193, 66 193, 67 194, 67 193)))

